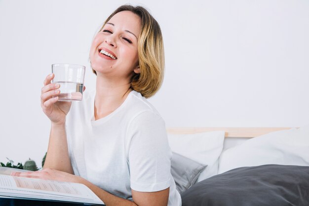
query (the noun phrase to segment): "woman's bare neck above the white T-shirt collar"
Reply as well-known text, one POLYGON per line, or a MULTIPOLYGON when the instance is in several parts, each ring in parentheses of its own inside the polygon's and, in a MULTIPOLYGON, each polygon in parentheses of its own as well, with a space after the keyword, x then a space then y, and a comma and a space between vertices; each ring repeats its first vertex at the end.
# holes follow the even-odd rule
POLYGON ((114 112, 131 91, 131 83, 129 81, 119 82, 98 76, 94 102, 95 120, 114 112))

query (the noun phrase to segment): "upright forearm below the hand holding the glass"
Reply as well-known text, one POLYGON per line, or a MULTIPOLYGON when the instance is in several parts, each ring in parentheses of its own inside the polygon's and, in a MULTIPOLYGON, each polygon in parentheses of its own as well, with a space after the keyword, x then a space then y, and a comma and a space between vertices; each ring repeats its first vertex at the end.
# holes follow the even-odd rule
POLYGON ((69 158, 66 126, 51 124, 44 168, 52 168, 73 174, 69 158))

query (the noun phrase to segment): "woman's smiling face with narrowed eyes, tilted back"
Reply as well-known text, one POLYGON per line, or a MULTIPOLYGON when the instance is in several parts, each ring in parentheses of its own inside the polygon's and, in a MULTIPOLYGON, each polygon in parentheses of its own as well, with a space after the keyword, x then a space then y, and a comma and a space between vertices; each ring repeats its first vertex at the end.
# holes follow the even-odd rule
POLYGON ((91 67, 116 78, 139 73, 137 41, 141 19, 131 11, 116 13, 94 37, 90 48, 91 67))

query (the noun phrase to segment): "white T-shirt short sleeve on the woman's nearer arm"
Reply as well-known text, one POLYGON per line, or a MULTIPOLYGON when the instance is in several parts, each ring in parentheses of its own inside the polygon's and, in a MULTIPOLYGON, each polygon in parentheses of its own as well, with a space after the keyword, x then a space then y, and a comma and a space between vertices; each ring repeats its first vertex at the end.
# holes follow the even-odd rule
POLYGON ((134 118, 128 129, 131 189, 155 192, 170 186, 171 156, 165 123, 153 111, 134 118))

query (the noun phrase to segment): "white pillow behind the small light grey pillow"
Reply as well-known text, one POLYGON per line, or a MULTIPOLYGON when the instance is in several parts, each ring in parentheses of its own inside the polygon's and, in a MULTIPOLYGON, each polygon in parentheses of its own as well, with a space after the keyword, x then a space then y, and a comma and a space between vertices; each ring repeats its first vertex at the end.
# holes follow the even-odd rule
POLYGON ((199 182, 218 174, 218 161, 223 149, 224 135, 224 131, 168 134, 168 141, 172 152, 207 165, 197 179, 199 182))

